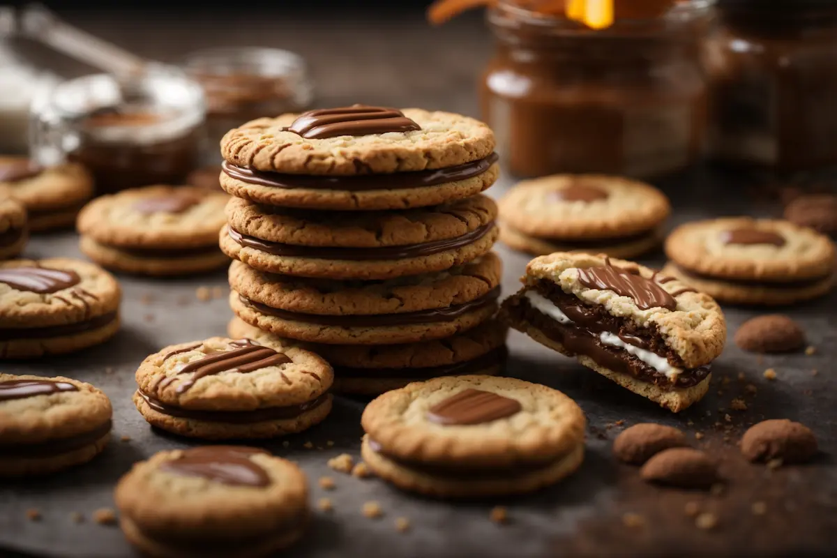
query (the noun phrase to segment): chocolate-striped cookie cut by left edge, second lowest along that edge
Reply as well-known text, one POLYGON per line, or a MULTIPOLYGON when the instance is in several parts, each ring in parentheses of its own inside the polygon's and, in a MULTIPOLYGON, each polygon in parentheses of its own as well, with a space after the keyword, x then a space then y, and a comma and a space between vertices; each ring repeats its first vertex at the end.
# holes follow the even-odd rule
POLYGON ((59 355, 119 330, 121 289, 104 269, 75 259, 0 263, 0 358, 59 355))

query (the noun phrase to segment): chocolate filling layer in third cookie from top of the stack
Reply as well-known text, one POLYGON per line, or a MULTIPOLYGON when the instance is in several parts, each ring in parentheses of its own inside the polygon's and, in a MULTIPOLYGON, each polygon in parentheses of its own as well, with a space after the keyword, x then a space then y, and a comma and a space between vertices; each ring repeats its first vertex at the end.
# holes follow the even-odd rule
POLYGON ((280 310, 273 306, 263 305, 260 302, 248 299, 244 294, 239 294, 239 299, 242 304, 249 306, 249 308, 261 314, 275 316, 282 320, 301 321, 306 324, 335 325, 337 327, 380 327, 453 321, 469 312, 475 312, 486 306, 493 305, 499 297, 500 287, 497 286, 483 296, 480 296, 479 299, 470 300, 461 305, 448 306, 447 308, 417 310, 415 312, 402 312, 401 314, 321 315, 280 310))

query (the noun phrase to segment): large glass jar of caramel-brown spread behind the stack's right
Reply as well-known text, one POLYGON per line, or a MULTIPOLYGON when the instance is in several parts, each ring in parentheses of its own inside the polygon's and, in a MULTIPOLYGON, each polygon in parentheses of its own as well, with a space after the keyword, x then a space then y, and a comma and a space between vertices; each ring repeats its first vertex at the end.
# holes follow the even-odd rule
POLYGON ((650 178, 702 155, 706 81, 700 36, 711 0, 603 30, 501 0, 483 117, 517 176, 603 172, 650 178))

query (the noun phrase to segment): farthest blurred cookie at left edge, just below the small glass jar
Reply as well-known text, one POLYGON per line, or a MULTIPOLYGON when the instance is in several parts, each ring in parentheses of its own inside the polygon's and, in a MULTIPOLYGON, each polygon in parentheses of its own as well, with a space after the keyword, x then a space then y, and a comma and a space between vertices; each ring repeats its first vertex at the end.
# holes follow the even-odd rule
POLYGON ((33 232, 71 227, 93 196, 93 178, 75 163, 44 167, 26 157, 0 156, 0 196, 26 207, 33 232))

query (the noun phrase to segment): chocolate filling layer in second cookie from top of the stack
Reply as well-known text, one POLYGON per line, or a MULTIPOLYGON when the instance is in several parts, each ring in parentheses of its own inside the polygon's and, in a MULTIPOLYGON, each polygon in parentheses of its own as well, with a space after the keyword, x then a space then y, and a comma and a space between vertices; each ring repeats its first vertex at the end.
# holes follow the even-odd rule
POLYGON ((262 252, 272 253, 275 256, 373 261, 379 259, 420 258, 434 253, 462 248, 483 238, 492 228, 494 228, 493 221, 456 238, 446 238, 423 244, 404 244, 403 246, 384 246, 381 248, 335 248, 331 246, 300 246, 298 244, 275 243, 239 233, 239 231, 232 227, 229 228, 229 238, 232 238, 244 248, 255 248, 262 252))

